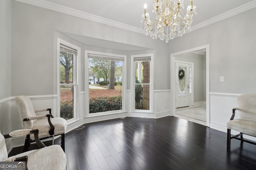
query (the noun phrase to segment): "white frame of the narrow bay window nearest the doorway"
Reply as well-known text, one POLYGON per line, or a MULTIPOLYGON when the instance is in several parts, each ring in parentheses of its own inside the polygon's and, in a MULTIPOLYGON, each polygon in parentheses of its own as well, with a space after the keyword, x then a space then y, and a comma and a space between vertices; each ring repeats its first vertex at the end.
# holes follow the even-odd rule
MULTIPOLYGON (((132 112, 142 112, 142 113, 154 113, 154 54, 142 54, 142 55, 131 55, 131 111, 132 112), (149 94, 149 110, 144 109, 135 109, 135 74, 136 74, 136 66, 134 64, 134 59, 136 58, 145 58, 150 57, 150 94, 149 94)), ((148 84, 148 83, 146 83, 148 84)))

